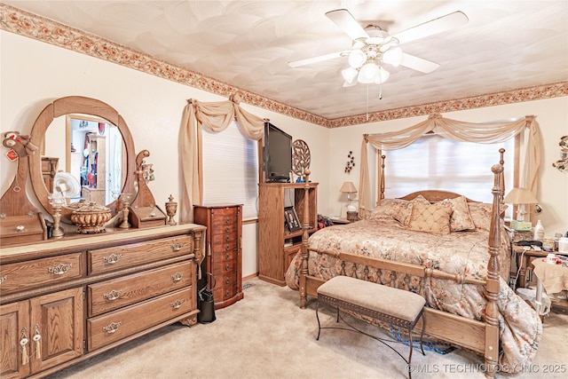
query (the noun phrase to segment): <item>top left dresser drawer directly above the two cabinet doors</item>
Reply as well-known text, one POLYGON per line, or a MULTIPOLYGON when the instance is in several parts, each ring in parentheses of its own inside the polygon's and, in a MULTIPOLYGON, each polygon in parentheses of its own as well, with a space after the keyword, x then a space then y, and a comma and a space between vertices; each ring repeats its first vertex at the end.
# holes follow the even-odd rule
POLYGON ((73 253, 2 265, 0 292, 11 294, 81 278, 84 274, 83 259, 83 253, 73 253))

